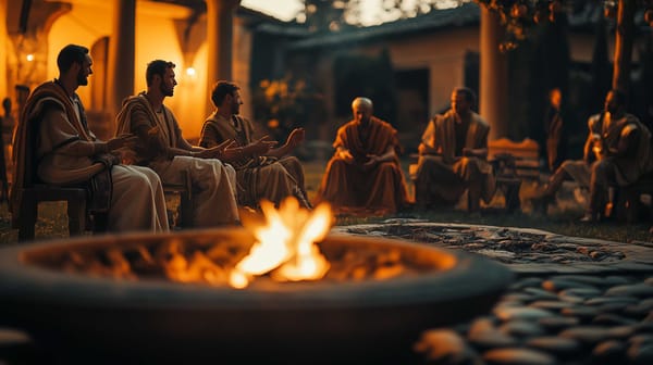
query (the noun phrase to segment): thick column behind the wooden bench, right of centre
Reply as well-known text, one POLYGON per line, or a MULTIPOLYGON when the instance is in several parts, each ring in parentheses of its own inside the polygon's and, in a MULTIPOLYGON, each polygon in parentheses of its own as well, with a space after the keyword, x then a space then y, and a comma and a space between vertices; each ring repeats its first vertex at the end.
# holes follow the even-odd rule
POLYGON ((498 50, 503 36, 498 16, 481 7, 480 114, 490 123, 490 140, 508 135, 507 56, 498 50))

